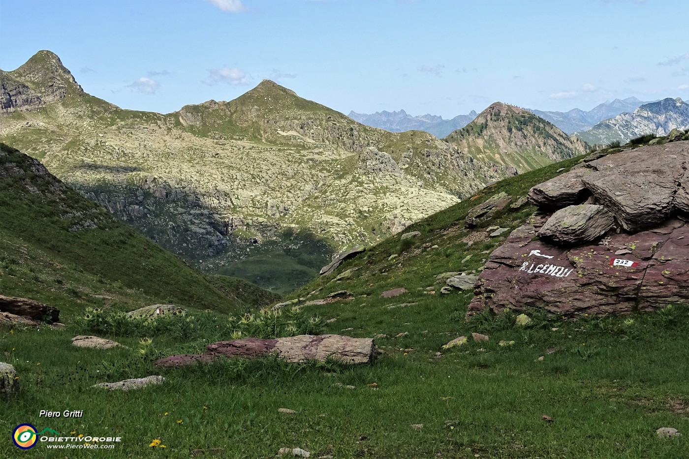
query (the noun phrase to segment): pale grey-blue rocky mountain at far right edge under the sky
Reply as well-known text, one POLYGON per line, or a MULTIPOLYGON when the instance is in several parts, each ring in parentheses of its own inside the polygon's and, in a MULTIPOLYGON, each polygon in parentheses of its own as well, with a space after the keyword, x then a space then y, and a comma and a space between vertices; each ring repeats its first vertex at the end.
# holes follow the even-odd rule
POLYGON ((601 121, 590 130, 575 132, 575 136, 591 144, 606 145, 653 134, 666 136, 673 129, 689 128, 689 104, 682 99, 663 99, 647 103, 632 113, 622 113, 613 119, 601 121))

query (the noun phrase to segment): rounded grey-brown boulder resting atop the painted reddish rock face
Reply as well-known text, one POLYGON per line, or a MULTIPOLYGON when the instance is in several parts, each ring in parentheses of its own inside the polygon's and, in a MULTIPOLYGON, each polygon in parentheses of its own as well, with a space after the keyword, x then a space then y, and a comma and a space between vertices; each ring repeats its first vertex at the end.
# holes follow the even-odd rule
POLYGON ((613 214, 602 205, 569 205, 548 218, 537 234, 546 241, 575 245, 603 236, 614 223, 613 214))

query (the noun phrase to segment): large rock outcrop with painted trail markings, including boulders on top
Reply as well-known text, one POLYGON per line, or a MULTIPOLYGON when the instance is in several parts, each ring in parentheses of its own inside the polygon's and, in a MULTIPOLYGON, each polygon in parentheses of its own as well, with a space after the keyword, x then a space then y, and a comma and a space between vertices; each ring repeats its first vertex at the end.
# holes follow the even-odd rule
MULTIPOLYGON (((604 207, 615 225, 604 232, 609 218, 602 213, 597 223, 584 218, 571 232, 566 219, 557 218, 560 211, 535 214, 490 255, 468 314, 527 307, 565 316, 621 314, 689 300, 688 163, 689 142, 680 141, 612 154, 588 163, 586 174, 582 168, 553 179, 568 183, 578 177, 578 186, 599 204, 584 208, 600 214, 604 207), (586 236, 572 238, 573 233, 586 236)), ((555 193, 534 190, 532 201, 552 211, 555 193)), ((560 205, 570 204, 571 196, 560 205)), ((586 193, 578 196, 585 199, 586 193)), ((582 208, 570 207, 567 215, 582 208)))

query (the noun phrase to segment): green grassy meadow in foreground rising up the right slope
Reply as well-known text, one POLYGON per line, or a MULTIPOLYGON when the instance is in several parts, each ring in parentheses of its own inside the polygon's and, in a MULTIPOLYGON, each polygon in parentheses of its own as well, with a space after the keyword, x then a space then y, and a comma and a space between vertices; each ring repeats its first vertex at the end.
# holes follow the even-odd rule
MULTIPOLYGON (((519 326, 511 313, 478 314, 467 321, 471 293, 440 293, 444 283, 436 280, 438 274, 478 272, 504 241, 487 236, 486 227, 513 229, 535 210, 528 204, 507 207, 467 230, 464 218, 471 207, 500 192, 517 201, 531 186, 579 161, 585 159, 506 179, 415 223, 405 231, 419 236, 404 241, 395 236, 370 247, 333 274, 285 296, 304 300, 280 312, 208 308, 134 322, 123 319, 124 306, 81 312, 74 307, 64 329, 0 328, 1 359, 17 368, 21 384, 17 396, 0 400, 0 430, 7 433, 0 456, 268 459, 280 448, 298 447, 311 458, 687 457, 687 305, 579 320, 531 311, 531 323, 519 326), (349 276, 336 281, 345 272, 349 276), (397 287, 407 292, 381 296, 397 287), (304 305, 340 290, 350 295, 304 305), (371 365, 353 367, 274 358, 183 369, 154 366, 156 358, 201 352, 217 340, 305 332, 376 337, 382 354, 371 365), (475 342, 472 333, 489 340, 475 342), (126 347, 76 348, 71 339, 78 334, 126 347), (469 339, 442 348, 458 336, 469 339), (90 387, 154 374, 165 382, 131 392, 90 387), (39 418, 41 409, 84 414, 39 418), (25 453, 9 440, 22 422, 67 435, 123 440, 114 450, 67 453, 39 444, 25 453), (659 427, 674 427, 683 436, 658 438, 659 427)), ((46 253, 46 260, 51 256, 46 253)), ((3 281, 6 273, 3 268, 3 281)), ((142 295, 150 294, 147 285, 141 288, 142 295)), ((20 287, 14 292, 22 293, 20 287)))

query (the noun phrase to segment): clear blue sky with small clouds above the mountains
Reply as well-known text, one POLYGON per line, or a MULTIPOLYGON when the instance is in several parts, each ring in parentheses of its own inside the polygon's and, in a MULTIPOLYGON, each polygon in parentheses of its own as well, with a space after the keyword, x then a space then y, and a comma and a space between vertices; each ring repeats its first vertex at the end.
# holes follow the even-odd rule
POLYGON ((172 112, 274 79, 349 113, 689 99, 689 1, 0 0, 0 68, 48 49, 86 92, 172 112))

